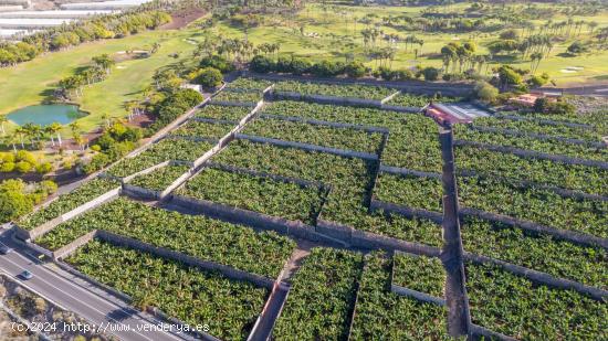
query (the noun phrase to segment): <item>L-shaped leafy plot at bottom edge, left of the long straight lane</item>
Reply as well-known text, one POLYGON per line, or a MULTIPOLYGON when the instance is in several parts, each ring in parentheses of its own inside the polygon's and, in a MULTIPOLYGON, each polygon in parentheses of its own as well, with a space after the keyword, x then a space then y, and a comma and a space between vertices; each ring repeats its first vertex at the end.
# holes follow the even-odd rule
POLYGON ((390 291, 390 259, 366 256, 353 320, 352 340, 451 340, 444 307, 390 291))

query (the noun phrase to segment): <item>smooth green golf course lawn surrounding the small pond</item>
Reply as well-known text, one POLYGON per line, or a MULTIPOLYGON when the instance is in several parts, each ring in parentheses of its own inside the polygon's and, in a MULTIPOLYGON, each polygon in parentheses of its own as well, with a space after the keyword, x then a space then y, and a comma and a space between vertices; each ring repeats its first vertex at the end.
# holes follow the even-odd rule
MULTIPOLYGON (((195 35, 195 29, 149 31, 125 39, 105 40, 86 43, 61 52, 48 53, 31 62, 14 67, 0 68, 0 115, 17 108, 39 104, 61 78, 72 75, 74 71, 90 63, 95 55, 116 54, 126 50, 149 49, 155 42, 160 49, 149 58, 130 60, 116 64, 112 74, 103 82, 85 87, 82 97, 75 98, 81 108, 91 113, 78 119, 84 130, 92 130, 102 124, 101 116, 124 117, 127 111, 125 100, 138 96, 139 92, 150 84, 155 70, 175 63, 169 54, 179 52, 187 57, 193 45, 185 41, 195 35)), ((9 122, 8 130, 14 128, 9 122)), ((65 128, 67 134, 67 128, 65 128)))

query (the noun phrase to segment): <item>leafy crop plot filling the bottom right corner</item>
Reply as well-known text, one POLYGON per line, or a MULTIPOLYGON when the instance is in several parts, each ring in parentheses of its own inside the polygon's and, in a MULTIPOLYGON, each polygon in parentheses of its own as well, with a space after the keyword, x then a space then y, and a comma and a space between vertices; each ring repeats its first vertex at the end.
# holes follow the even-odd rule
POLYGON ((553 289, 492 266, 467 265, 473 323, 523 340, 602 340, 605 302, 553 289), (538 320, 542 317, 542 321, 538 320))

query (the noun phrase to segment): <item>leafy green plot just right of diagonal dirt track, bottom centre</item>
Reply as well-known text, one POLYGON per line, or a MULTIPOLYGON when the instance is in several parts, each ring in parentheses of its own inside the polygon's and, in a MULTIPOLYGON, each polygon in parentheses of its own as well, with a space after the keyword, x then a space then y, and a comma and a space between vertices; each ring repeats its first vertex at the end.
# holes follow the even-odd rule
POLYGON ((313 248, 292 279, 274 339, 347 339, 361 267, 360 254, 313 248))

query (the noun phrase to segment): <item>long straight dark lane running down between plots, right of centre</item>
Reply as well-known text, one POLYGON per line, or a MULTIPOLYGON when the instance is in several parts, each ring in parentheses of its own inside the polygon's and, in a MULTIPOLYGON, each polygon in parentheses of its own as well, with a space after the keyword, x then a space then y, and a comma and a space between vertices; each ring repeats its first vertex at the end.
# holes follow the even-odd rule
POLYGON ((443 249, 441 260, 447 271, 445 302, 448 305, 448 332, 451 337, 471 337, 471 315, 467 296, 463 248, 460 236, 458 189, 454 167, 453 131, 451 124, 439 128, 441 157, 443 159, 443 249))

